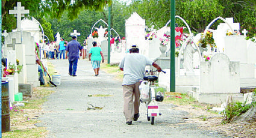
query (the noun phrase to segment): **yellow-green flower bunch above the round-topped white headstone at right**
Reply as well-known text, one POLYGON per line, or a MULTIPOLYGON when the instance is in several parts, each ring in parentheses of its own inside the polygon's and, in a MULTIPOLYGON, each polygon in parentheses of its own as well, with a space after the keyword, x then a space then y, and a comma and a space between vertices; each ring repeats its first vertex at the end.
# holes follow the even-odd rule
POLYGON ((201 38, 199 39, 198 44, 201 44, 203 48, 206 48, 207 44, 210 44, 210 47, 216 47, 213 39, 213 32, 207 31, 205 35, 204 33, 201 33, 201 38))

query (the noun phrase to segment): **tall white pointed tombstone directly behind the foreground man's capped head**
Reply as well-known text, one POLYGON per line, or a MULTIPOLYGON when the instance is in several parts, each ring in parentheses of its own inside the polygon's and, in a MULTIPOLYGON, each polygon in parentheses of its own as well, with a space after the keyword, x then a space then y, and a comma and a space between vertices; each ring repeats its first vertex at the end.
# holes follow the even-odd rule
POLYGON ((142 19, 139 14, 133 13, 131 17, 125 20, 125 38, 127 49, 130 49, 133 45, 137 45, 140 52, 144 50, 145 19, 142 19))

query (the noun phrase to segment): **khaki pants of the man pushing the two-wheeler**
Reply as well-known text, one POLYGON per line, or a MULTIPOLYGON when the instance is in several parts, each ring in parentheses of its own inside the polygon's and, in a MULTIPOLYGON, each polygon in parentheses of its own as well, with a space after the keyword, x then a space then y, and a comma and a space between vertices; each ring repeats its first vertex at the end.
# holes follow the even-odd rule
POLYGON ((133 85, 123 85, 123 114, 126 122, 133 121, 134 113, 139 113, 140 107, 140 82, 133 85))

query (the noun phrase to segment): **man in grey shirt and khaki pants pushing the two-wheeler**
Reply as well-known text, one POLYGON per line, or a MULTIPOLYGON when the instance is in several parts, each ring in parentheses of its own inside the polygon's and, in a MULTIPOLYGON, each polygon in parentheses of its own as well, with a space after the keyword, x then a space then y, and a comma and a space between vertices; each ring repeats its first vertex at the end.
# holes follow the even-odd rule
POLYGON ((132 121, 137 121, 140 117, 140 80, 145 76, 146 65, 152 65, 161 71, 161 67, 144 55, 139 54, 139 48, 132 46, 130 53, 126 55, 119 64, 123 71, 123 114, 126 124, 131 125, 132 121))

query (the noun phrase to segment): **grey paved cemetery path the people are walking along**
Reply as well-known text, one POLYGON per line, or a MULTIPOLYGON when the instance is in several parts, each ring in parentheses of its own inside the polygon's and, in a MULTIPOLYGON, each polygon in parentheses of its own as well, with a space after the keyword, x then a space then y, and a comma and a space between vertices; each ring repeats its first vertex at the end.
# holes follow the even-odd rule
POLYGON ((72 77, 67 74, 67 60, 50 62, 61 74, 61 84, 43 104, 42 122, 37 124, 49 130, 47 137, 225 137, 184 123, 189 112, 166 103, 159 103, 162 116, 155 118, 154 125, 146 118, 145 104, 140 106, 139 120, 126 125, 121 82, 113 75, 100 70, 95 77, 90 62, 79 60, 77 76, 72 77), (103 108, 88 110, 89 104, 103 108))

